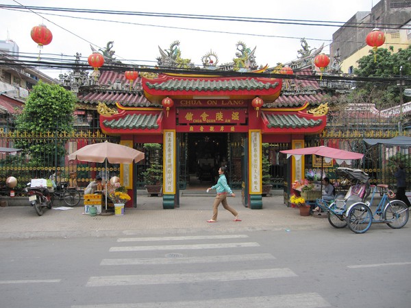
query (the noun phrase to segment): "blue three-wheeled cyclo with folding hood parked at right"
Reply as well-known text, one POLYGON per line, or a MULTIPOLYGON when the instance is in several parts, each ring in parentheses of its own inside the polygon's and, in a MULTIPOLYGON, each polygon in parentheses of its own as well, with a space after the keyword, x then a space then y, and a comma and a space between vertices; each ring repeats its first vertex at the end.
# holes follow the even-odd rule
POLYGON ((369 175, 360 169, 338 167, 337 176, 349 187, 347 193, 338 193, 334 201, 316 200, 316 206, 327 212, 329 224, 334 228, 348 226, 353 233, 366 233, 372 223, 387 224, 390 228, 402 228, 408 222, 408 206, 395 200, 395 193, 388 185, 370 185, 369 175), (366 200, 371 193, 371 200, 366 200), (371 211, 375 194, 381 200, 371 211))

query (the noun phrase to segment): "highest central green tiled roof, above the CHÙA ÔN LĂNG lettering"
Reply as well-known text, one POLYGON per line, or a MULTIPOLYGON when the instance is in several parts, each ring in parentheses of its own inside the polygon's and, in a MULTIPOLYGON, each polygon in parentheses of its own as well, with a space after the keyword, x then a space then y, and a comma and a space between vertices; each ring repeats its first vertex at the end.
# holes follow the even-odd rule
POLYGON ((149 88, 161 91, 239 91, 268 90, 278 86, 278 82, 264 83, 256 79, 247 80, 167 80, 162 83, 147 82, 149 88))

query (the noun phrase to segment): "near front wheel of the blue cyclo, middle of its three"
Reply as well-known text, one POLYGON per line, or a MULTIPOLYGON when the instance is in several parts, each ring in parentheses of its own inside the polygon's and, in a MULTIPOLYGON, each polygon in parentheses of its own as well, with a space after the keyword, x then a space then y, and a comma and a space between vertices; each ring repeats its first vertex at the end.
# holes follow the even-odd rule
POLYGON ((366 233, 373 222, 373 213, 364 203, 354 204, 349 208, 346 220, 353 233, 366 233))

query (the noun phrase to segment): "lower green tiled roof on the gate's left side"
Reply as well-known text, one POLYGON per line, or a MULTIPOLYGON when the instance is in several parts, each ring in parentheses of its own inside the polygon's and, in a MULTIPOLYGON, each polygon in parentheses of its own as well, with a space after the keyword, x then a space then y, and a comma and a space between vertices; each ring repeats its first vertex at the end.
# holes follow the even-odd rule
POLYGON ((126 115, 121 119, 113 119, 111 121, 103 121, 104 126, 107 128, 117 128, 117 129, 157 129, 158 128, 158 117, 160 112, 155 115, 126 115))

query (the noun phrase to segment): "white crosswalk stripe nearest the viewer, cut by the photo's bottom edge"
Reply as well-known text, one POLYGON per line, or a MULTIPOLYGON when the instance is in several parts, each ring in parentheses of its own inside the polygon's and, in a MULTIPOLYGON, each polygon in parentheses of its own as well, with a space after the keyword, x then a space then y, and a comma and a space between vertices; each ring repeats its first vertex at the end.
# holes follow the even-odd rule
POLYGON ((320 308, 331 307, 318 293, 282 294, 242 298, 215 298, 179 302, 75 305, 71 308, 320 308))

